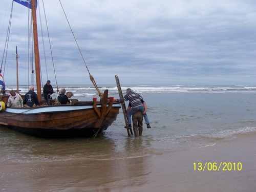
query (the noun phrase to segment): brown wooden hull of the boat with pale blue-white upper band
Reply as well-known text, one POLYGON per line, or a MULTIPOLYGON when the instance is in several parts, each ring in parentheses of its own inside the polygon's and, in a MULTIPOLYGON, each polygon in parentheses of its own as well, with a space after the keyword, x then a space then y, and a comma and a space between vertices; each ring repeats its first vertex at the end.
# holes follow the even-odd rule
POLYGON ((6 108, 0 112, 0 124, 22 133, 54 136, 106 130, 116 120, 120 103, 107 104, 107 114, 99 114, 101 104, 51 105, 37 108, 6 108), (41 133, 40 133, 41 132, 41 133), (42 134, 45 133, 45 134, 42 134))

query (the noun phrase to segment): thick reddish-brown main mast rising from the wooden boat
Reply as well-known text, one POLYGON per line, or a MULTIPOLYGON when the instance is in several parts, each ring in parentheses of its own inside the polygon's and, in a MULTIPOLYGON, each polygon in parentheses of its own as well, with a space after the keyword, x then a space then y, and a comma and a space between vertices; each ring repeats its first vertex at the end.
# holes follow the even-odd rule
POLYGON ((32 8, 32 18, 33 18, 36 90, 37 90, 37 97, 38 97, 38 100, 40 102, 42 100, 42 94, 41 94, 40 57, 39 57, 39 48, 38 48, 38 35, 37 35, 35 0, 31 1, 31 8, 32 8))

